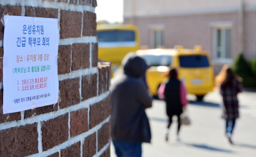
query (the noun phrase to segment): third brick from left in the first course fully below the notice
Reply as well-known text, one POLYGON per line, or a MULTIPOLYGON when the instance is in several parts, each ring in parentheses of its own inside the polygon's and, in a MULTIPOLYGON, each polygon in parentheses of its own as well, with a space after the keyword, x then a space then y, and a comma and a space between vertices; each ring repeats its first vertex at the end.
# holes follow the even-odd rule
POLYGON ((75 137, 78 134, 87 132, 88 126, 88 109, 83 108, 70 113, 70 136, 75 137))

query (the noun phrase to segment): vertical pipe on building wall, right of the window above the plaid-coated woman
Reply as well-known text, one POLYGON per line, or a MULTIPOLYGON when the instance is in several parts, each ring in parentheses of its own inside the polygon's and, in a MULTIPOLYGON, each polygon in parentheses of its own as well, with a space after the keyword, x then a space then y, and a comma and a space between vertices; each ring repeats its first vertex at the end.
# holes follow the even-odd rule
POLYGON ((244 0, 239 0, 239 52, 244 52, 244 0))

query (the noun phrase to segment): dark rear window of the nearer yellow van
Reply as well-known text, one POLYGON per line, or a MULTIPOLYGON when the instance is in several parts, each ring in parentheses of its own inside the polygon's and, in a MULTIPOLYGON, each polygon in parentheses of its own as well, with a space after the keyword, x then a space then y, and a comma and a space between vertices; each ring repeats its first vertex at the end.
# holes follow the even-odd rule
POLYGON ((206 68, 210 66, 207 57, 203 55, 180 56, 179 62, 182 68, 206 68))

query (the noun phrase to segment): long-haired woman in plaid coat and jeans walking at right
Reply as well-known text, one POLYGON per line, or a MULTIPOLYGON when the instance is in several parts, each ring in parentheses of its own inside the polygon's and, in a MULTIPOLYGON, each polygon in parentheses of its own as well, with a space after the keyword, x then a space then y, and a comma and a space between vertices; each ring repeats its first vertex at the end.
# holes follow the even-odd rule
POLYGON ((243 91, 241 79, 236 76, 228 65, 224 65, 216 80, 217 85, 220 86, 220 94, 224 105, 225 134, 230 144, 233 144, 233 129, 236 124, 236 118, 239 117, 237 94, 243 91))

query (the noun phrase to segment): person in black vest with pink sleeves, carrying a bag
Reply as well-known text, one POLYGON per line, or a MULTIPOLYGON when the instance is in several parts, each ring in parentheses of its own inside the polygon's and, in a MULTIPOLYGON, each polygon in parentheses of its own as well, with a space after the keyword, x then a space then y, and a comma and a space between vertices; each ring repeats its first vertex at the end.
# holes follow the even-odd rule
POLYGON ((187 91, 184 84, 178 80, 178 72, 176 68, 171 68, 168 76, 170 79, 167 81, 167 83, 162 83, 159 87, 159 98, 165 99, 166 113, 169 118, 165 132, 165 140, 168 141, 173 116, 178 117, 177 140, 180 140, 179 132, 181 129, 181 113, 183 113, 183 110, 187 107, 187 91))

